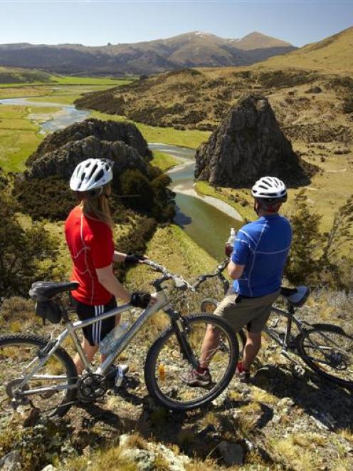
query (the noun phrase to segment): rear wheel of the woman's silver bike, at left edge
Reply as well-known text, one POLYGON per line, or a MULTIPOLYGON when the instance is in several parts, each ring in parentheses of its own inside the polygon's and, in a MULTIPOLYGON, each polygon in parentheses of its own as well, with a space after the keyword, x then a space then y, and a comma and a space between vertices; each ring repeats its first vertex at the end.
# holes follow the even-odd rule
POLYGON ((13 405, 32 407, 46 416, 63 416, 75 400, 75 389, 65 389, 77 381, 72 358, 58 348, 27 383, 23 378, 39 366, 43 348, 48 340, 29 335, 0 336, 0 410, 4 417, 11 416, 13 405), (26 391, 51 386, 60 390, 26 395, 26 391))

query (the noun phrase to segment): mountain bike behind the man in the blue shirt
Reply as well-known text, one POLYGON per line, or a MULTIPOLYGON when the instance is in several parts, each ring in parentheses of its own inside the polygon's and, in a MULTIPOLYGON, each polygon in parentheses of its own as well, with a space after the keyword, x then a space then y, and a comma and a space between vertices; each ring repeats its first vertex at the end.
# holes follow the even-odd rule
MULTIPOLYGON (((223 275, 229 259, 219 264, 214 272, 199 277, 199 285, 206 279, 216 278, 223 286, 224 294, 229 289, 229 281, 223 275)), ((279 306, 272 307, 272 313, 279 314, 286 319, 284 331, 280 331, 278 324, 280 317, 273 319, 263 329, 263 332, 281 347, 281 353, 294 363, 295 376, 305 373, 300 362, 290 354, 300 356, 302 361, 317 375, 328 381, 333 381, 346 388, 353 388, 353 336, 344 331, 342 327, 333 324, 310 324, 295 315, 296 309, 304 306, 310 294, 307 286, 297 288, 281 288, 280 294, 284 297, 287 309, 279 306), (297 328, 297 335, 293 336, 293 324, 297 328)), ((218 301, 206 298, 201 301, 201 312, 212 313, 218 301)), ((241 329, 238 333, 241 344, 246 344, 246 333, 241 329)))

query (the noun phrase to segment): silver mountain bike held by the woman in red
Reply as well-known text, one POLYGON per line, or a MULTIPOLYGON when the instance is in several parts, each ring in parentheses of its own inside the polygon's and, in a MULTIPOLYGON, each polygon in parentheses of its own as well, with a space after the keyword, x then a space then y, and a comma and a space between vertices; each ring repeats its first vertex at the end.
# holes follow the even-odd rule
POLYGON ((125 304, 92 319, 72 322, 60 296, 77 289, 78 283, 37 282, 32 285, 30 293, 37 301, 37 306, 42 303, 44 312, 48 311, 46 308, 53 308, 54 314, 60 314, 58 319, 56 316, 47 317, 53 322, 60 322, 64 330, 56 338, 52 333, 50 339, 21 333, 0 336, 2 413, 11 414, 21 406, 28 406, 47 416, 63 416, 75 403, 102 398, 108 388, 106 374, 113 362, 148 319, 160 309, 167 314, 170 325, 149 348, 144 363, 144 380, 152 398, 172 410, 190 410, 214 400, 226 388, 238 361, 238 343, 231 327, 211 314, 181 316, 172 308, 168 296, 170 284, 167 286, 165 283, 172 281, 173 289, 177 291, 196 291, 198 281, 193 286, 162 265, 151 260, 144 260, 143 263, 162 274, 152 281, 157 302, 142 311, 95 370, 83 352, 76 331, 123 314, 132 306, 125 304), (199 366, 202 341, 210 324, 216 328, 221 339, 217 348, 206 352, 211 362, 209 369, 213 382, 209 388, 191 387, 183 383, 179 376, 185 370, 199 366), (62 346, 67 338, 71 339, 74 350, 85 366, 81 376, 76 371, 73 359, 62 346))

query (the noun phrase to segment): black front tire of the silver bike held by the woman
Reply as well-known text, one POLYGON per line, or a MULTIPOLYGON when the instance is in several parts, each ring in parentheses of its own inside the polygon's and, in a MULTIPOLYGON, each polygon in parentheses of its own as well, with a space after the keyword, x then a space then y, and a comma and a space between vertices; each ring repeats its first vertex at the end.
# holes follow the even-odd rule
MULTIPOLYGON (((207 325, 213 324, 218 329, 220 329, 220 331, 223 332, 223 335, 225 335, 229 345, 229 361, 228 366, 226 367, 226 371, 221 378, 221 381, 218 381, 218 383, 216 383, 216 385, 209 391, 209 393, 206 393, 201 398, 196 398, 187 402, 170 398, 165 393, 163 393, 161 388, 159 388, 159 384, 156 378, 156 367, 159 353, 161 353, 162 348, 167 344, 167 341, 169 341, 172 336, 176 337, 172 327, 168 328, 167 331, 164 331, 164 333, 162 333, 162 335, 159 336, 159 338, 157 338, 157 340, 152 344, 151 348, 147 353, 146 362, 144 364, 144 381, 147 385, 147 390, 149 391, 149 394, 152 396, 152 398, 154 398, 154 400, 156 400, 157 403, 163 405, 168 409, 178 411, 186 411, 199 408, 203 405, 206 405, 206 403, 209 403, 211 400, 214 400, 218 395, 220 395, 230 383, 231 378, 233 378, 239 355, 238 340, 234 335, 231 326, 229 326, 226 321, 219 318, 218 316, 213 316, 211 314, 194 314, 192 316, 188 316, 185 319, 187 321, 188 326, 192 326, 192 324, 196 323, 205 323, 207 325)), ((213 358, 215 357, 216 355, 213 358)), ((184 384, 181 383, 181 385, 185 387, 184 384)), ((205 390, 204 388, 201 389, 203 391, 205 390)))

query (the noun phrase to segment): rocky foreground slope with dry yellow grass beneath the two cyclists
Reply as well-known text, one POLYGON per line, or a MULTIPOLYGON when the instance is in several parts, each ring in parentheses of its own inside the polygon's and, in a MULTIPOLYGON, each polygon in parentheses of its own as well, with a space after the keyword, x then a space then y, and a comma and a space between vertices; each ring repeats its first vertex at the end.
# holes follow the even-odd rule
MULTIPOLYGON (((175 226, 157 229, 147 254, 188 278, 214 266, 175 226)), ((131 288, 151 289, 148 281, 155 276, 147 266, 138 266, 127 281, 131 288)), ((181 300, 182 306, 194 311, 195 300, 190 294, 188 303, 181 300)), ((48 335, 52 330, 33 324, 32 301, 14 298, 2 307, 3 332, 36 328, 38 334, 48 335)), ((306 321, 344 325, 352 316, 352 296, 320 290, 300 311, 306 321)), ((123 319, 136 316, 132 311, 123 319)), ((293 365, 268 338, 263 338, 251 382, 233 378, 226 393, 207 408, 180 414, 154 404, 144 385, 143 365, 166 324, 167 316, 155 315, 122 353, 119 362, 128 363, 130 373, 119 392, 97 404, 74 405, 64 420, 42 420, 36 427, 23 426, 25 413, 14 414, 10 423, 1 424, 0 452, 19 450, 23 469, 33 471, 46 465, 58 470, 137 470, 147 460, 156 470, 236 470, 222 457, 219 445, 226 440, 241 446, 244 470, 352 469, 349 392, 308 370, 297 378, 293 365)), ((278 331, 284 332, 282 321, 278 331)), ((69 341, 65 348, 73 353, 69 341)))

